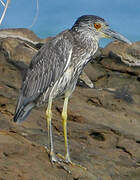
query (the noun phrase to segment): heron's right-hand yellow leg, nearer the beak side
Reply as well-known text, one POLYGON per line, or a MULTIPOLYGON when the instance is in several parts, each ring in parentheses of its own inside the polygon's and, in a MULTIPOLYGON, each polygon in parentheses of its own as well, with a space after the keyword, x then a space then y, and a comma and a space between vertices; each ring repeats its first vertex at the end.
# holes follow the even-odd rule
POLYGON ((63 130, 64 130, 64 141, 65 141, 65 160, 66 162, 71 162, 70 154, 69 154, 69 146, 68 146, 68 138, 67 138, 67 107, 68 107, 69 97, 65 97, 63 111, 62 111, 62 120, 63 120, 63 130))

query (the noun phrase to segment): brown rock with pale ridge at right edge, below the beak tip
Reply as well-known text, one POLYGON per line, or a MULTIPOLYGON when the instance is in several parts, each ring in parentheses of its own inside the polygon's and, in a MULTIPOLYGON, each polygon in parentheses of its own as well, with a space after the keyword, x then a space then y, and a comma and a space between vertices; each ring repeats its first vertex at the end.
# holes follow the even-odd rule
POLYGON ((139 80, 139 45, 139 42, 133 43, 132 45, 117 41, 110 43, 102 49, 100 64, 102 64, 106 70, 116 71, 116 73, 126 73, 135 76, 139 80))

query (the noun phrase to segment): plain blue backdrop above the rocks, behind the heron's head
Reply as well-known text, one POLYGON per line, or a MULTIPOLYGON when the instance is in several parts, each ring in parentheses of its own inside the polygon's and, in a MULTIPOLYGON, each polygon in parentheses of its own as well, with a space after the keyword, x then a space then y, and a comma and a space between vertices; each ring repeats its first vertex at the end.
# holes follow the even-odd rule
MULTIPOLYGON (((6 1, 6 0, 5 0, 6 1)), ((29 28, 46 38, 71 28, 85 14, 104 18, 115 31, 131 41, 140 40, 140 0, 11 0, 0 28, 29 28)), ((0 6, 2 12, 2 6, 0 6)), ((105 45, 109 41, 102 41, 105 45)))

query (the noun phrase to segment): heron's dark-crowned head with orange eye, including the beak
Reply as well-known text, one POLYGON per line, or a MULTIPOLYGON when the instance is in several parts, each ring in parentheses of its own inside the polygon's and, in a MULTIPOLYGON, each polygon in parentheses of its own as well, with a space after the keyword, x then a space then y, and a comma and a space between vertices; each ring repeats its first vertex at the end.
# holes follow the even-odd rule
POLYGON ((85 32, 85 34, 90 34, 97 40, 100 38, 111 38, 131 44, 127 38, 110 29, 104 19, 94 15, 84 15, 79 17, 73 25, 72 30, 83 33, 85 32))

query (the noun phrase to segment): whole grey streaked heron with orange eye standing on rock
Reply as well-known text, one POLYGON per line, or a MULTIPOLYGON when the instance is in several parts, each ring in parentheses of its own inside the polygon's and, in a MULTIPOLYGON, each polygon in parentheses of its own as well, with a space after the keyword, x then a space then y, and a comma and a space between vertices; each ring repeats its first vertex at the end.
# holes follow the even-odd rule
POLYGON ((23 80, 14 122, 24 121, 32 108, 48 103, 46 110, 51 161, 57 161, 52 139, 52 101, 64 95, 62 120, 65 140, 65 161, 71 162, 67 140, 67 106, 78 77, 98 49, 100 38, 113 38, 130 43, 109 28, 98 16, 84 15, 73 27, 48 41, 33 57, 23 80))

